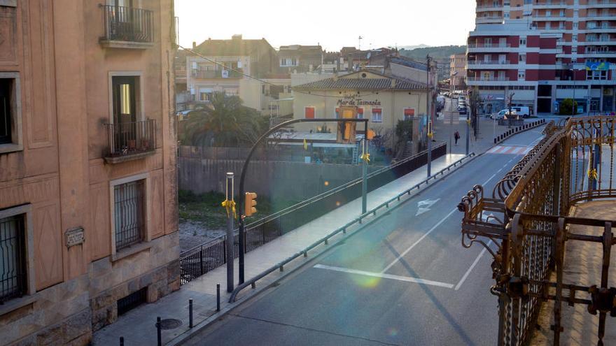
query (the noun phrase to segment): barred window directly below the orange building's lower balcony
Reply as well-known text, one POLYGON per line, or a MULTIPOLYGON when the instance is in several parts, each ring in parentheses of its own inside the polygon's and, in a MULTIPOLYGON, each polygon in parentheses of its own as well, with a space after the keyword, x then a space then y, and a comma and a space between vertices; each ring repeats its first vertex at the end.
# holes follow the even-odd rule
POLYGON ((114 187, 116 251, 144 240, 145 180, 114 187))

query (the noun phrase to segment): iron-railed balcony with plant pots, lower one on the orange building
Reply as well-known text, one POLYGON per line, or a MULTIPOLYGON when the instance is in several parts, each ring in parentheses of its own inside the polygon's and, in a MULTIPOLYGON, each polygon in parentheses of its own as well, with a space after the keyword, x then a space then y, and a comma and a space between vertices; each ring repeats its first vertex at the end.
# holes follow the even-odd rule
POLYGON ((109 138, 109 150, 105 157, 108 164, 119 164, 154 154, 155 120, 105 124, 105 127, 109 138))

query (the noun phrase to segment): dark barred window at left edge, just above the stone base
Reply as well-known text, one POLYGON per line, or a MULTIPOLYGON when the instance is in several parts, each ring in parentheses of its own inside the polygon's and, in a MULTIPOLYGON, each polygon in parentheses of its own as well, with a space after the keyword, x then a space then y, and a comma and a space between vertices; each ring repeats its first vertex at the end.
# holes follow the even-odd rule
POLYGON ((24 217, 0 219, 0 304, 26 294, 25 253, 24 217))

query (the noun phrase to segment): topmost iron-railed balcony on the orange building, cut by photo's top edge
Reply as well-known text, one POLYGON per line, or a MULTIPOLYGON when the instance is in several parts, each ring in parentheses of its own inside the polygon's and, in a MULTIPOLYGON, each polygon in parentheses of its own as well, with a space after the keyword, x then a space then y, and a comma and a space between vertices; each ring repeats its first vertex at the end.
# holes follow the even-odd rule
POLYGON ((100 38, 104 48, 146 49, 154 45, 154 16, 151 10, 100 5, 103 9, 105 34, 100 38))

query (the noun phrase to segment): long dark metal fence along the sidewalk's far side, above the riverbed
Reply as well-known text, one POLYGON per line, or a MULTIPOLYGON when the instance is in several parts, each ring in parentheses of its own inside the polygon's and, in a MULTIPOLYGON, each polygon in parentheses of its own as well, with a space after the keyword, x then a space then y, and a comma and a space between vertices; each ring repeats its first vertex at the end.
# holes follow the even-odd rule
MULTIPOLYGON (((439 143, 433 147, 432 157, 447 154, 447 145, 439 143)), ((428 152, 420 152, 412 157, 403 159, 396 164, 387 166, 367 175, 368 192, 386 185, 388 182, 400 178, 428 162, 428 152)), ((301 203, 295 204, 257 222, 246 225, 246 250, 249 252, 261 245, 282 236, 293 229, 297 229, 328 212, 344 206, 344 204, 358 199, 361 196, 361 179, 353 180, 342 186, 331 189, 328 192, 314 196, 301 203)), ((359 212, 359 211, 358 211, 359 212)), ((235 257, 239 255, 239 235, 236 233, 233 239, 235 245, 235 257)), ((218 268, 226 263, 226 236, 221 236, 204 243, 180 255, 181 284, 190 282, 195 277, 218 268)))

